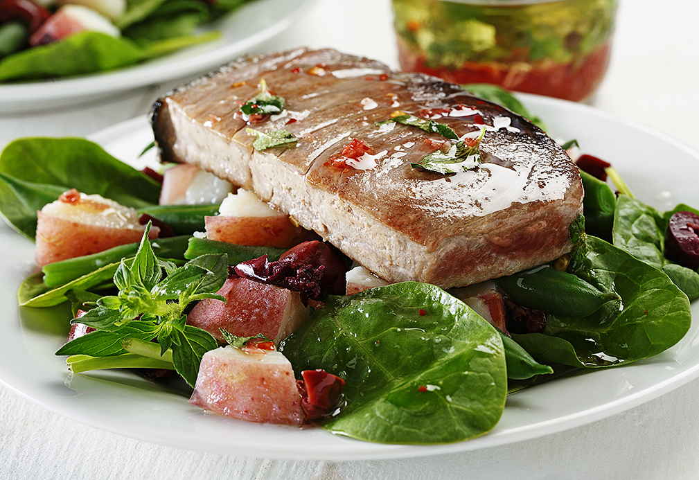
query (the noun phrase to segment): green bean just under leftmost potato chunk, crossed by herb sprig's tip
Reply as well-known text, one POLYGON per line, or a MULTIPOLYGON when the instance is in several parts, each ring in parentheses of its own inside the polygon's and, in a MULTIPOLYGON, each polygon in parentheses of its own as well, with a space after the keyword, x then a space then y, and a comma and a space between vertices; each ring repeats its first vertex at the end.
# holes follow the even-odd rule
MULTIPOLYGON (((184 259, 188 240, 189 235, 158 238, 153 240, 151 245, 155 254, 161 259, 184 259)), ((122 259, 135 256, 138 245, 139 243, 129 243, 104 252, 49 263, 42 268, 44 284, 46 286, 64 285, 110 263, 117 263, 122 259)))

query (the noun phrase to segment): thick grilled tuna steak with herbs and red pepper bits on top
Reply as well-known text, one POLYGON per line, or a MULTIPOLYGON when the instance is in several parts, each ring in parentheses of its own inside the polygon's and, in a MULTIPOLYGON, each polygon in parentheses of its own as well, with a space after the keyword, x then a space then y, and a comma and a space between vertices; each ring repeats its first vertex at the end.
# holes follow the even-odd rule
POLYGON ((335 50, 234 61, 159 99, 152 126, 162 161, 253 189, 389 282, 466 286, 551 261, 570 251, 568 227, 582 210, 577 168, 526 119, 335 50), (281 114, 241 112, 261 80, 285 99, 281 114), (382 123, 396 110, 460 138, 485 129, 482 163, 447 175, 413 168, 448 140, 382 123), (247 129, 285 129, 298 141, 257 151, 247 129))

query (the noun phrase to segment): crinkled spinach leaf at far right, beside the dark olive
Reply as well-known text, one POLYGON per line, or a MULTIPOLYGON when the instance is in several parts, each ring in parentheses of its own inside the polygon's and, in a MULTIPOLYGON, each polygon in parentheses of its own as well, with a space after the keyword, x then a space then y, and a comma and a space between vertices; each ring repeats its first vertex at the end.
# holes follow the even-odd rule
POLYGON ((693 300, 699 298, 699 273, 665 259, 664 255, 665 230, 670 217, 682 210, 693 209, 678 205, 674 210, 661 214, 636 198, 620 195, 614 213, 614 246, 663 270, 693 300))

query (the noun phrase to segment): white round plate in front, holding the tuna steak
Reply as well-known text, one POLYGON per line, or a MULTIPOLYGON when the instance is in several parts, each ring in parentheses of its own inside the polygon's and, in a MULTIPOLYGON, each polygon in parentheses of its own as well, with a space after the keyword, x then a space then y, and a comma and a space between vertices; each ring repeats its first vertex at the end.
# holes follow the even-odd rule
MULTIPOLYGON (((636 196, 656 208, 684 201, 699 205, 699 153, 630 122, 577 103, 521 96, 549 126, 552 136, 577 138, 584 152, 611 161, 636 196)), ((94 140, 125 161, 150 143, 145 118, 96 133, 94 140)), ((528 388, 507 399, 498 426, 483 437, 440 446, 371 444, 331 435, 245 423, 206 414, 187 398, 152 386, 133 374, 93 372, 69 378, 53 352, 65 326, 41 312, 17 312, 15 292, 33 271, 33 244, 0 228, 0 304, 6 306, 0 381, 59 414, 128 437, 215 453, 296 460, 353 460, 428 456, 484 449, 549 435, 603 419, 647 402, 699 376, 698 326, 672 349, 621 368, 579 372, 528 388), (108 381, 112 380, 112 381, 108 381)), ((699 319, 699 303, 692 305, 699 319)))

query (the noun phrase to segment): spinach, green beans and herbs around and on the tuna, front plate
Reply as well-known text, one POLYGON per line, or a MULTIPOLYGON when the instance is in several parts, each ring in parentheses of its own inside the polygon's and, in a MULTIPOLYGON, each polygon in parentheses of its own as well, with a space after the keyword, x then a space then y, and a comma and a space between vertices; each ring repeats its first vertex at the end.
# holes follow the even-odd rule
MULTIPOLYGON (((531 117, 499 89, 467 88, 531 117)), ((440 131, 415 117, 391 121, 440 131)), ((468 155, 447 165, 477 156, 477 142, 466 147, 468 155)), ((675 212, 697 212, 686 205, 658 212, 607 171, 617 191, 582 173, 584 217, 570 226, 570 255, 496 279, 507 328, 491 325, 458 291, 417 282, 311 304, 310 318, 275 348, 295 372, 322 369, 343 379, 332 413, 313 423, 371 442, 460 442, 496 426, 507 395, 522 388, 571 370, 616 368, 682 340, 699 273, 668 258, 665 229, 675 212)), ((229 269, 261 258, 271 264, 285 249, 195 235, 217 205, 157 205, 158 182, 87 140, 24 138, 0 155, 0 212, 21 235, 34 239, 36 211, 68 189, 113 198, 168 224, 174 235, 147 240, 146 231, 134 244, 49 263, 20 286, 18 302, 55 312, 66 334, 71 321, 94 330, 56 352, 73 373, 174 370, 191 391, 203 356, 222 344, 187 323, 192 305, 222 300, 229 269), (59 308, 65 303, 72 318, 59 308)))

